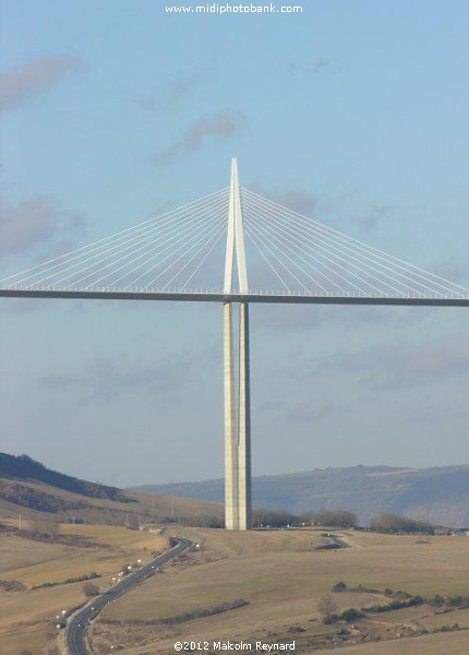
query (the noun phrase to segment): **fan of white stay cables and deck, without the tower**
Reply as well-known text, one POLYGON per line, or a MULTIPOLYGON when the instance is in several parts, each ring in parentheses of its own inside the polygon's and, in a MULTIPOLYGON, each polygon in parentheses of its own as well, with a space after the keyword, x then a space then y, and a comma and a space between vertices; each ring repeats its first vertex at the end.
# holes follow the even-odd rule
POLYGON ((0 279, 2 296, 467 305, 469 290, 239 190, 249 286, 224 286, 230 189, 0 279))

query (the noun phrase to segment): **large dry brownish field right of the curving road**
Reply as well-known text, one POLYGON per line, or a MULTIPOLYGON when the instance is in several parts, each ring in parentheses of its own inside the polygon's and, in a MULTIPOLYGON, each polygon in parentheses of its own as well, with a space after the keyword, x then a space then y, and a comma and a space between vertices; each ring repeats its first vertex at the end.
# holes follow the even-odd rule
MULTIPOLYGON (((348 587, 361 584, 378 592, 393 588, 424 596, 468 595, 469 540, 465 538, 432 537, 422 543, 418 537, 345 532, 341 534, 351 548, 315 550, 314 546, 323 540, 321 531, 237 534, 181 528, 178 533, 199 543, 200 549, 103 612, 93 629, 97 653, 120 646, 132 655, 163 654, 173 652, 176 640, 273 643, 281 639, 296 639, 299 648, 304 644, 301 647, 310 652, 312 644, 321 640, 333 643, 340 629, 350 628, 342 622, 324 626, 317 610, 321 598, 339 581, 348 587), (248 605, 201 616, 236 600, 248 605), (178 622, 182 615, 188 619, 191 614, 194 618, 178 622)), ((389 602, 382 593, 333 596, 338 612, 389 602)), ((349 630, 349 642, 360 642, 365 635, 393 639, 454 623, 469 628, 469 611, 436 614, 423 604, 368 616, 349 630)), ((440 643, 446 638, 452 644, 458 640, 464 643, 465 639, 469 641, 469 632, 432 634, 422 643, 433 643, 433 639, 440 643)), ((413 647, 414 640, 406 643, 413 647)), ((393 645, 390 641, 384 644, 389 648, 393 645)), ((372 646, 376 644, 353 648, 377 652, 372 646)), ((389 651, 394 652, 399 651, 389 651)))

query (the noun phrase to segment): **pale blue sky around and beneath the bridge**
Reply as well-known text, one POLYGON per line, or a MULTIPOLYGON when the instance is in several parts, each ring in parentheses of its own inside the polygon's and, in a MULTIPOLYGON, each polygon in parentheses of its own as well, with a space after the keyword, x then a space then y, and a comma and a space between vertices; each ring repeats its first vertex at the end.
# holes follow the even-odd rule
MULTIPOLYGON (((236 155, 244 187, 468 287, 469 4, 292 4, 1 0, 0 277, 227 187, 236 155)), ((0 312, 0 451, 223 476, 220 306, 0 312)), ((251 317, 254 475, 468 463, 466 308, 251 317)))

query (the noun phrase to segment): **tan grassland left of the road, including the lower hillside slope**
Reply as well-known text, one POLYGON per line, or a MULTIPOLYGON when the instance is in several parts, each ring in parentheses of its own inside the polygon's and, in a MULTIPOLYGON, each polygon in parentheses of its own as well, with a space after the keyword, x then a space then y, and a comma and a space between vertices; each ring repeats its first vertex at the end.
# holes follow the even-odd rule
MULTIPOLYGON (((0 476, 0 485, 11 483, 11 478, 0 476)), ((106 588, 124 563, 148 561, 152 552, 166 548, 167 539, 155 532, 128 529, 124 525, 152 524, 164 516, 223 515, 223 507, 212 502, 141 492, 125 492, 131 502, 119 502, 33 479, 14 478, 13 483, 26 487, 29 497, 37 493, 39 500, 52 498, 57 507, 71 508, 73 503, 74 509, 47 513, 0 498, 0 581, 17 581, 26 587, 5 591, 0 584, 0 655, 53 652, 57 615, 85 599, 84 582, 61 584, 65 580, 95 572, 99 575, 96 583, 106 588), (17 533, 20 514, 22 534, 17 533), (85 524, 67 524, 71 516, 85 524), (60 523, 60 532, 52 541, 26 538, 29 528, 46 526, 52 534, 55 522, 60 523), (67 545, 60 543, 63 539, 67 545), (56 586, 33 588, 46 583, 56 586)))

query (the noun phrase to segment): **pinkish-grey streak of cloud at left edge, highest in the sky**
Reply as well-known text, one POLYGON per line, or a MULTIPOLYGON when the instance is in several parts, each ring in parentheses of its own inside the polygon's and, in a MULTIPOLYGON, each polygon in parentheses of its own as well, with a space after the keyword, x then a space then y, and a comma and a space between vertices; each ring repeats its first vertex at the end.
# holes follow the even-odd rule
POLYGON ((0 110, 10 109, 35 97, 67 73, 81 68, 81 60, 57 55, 0 73, 0 110))

